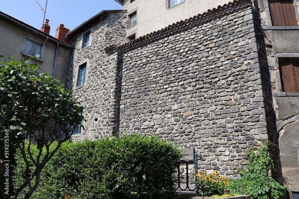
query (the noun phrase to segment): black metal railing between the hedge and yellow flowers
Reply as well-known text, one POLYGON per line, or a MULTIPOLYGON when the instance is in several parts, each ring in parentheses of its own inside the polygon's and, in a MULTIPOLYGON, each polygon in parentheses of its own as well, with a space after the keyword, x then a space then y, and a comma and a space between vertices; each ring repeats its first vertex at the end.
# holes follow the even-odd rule
MULTIPOLYGON (((193 159, 192 160, 179 160, 180 164, 178 167, 178 188, 177 190, 179 191, 194 191, 196 192, 196 195, 198 195, 198 187, 197 187, 197 181, 196 181, 196 174, 198 172, 198 168, 197 168, 197 161, 200 160, 202 158, 201 154, 188 154, 187 156, 191 156, 193 155, 193 159), (180 166, 181 165, 186 165, 186 187, 182 188, 181 187, 181 172, 180 172, 180 166), (195 187, 194 188, 190 188, 190 184, 189 184, 189 165, 190 164, 194 164, 195 165, 195 187)), ((192 174, 192 170, 191 170, 191 174, 192 174)))

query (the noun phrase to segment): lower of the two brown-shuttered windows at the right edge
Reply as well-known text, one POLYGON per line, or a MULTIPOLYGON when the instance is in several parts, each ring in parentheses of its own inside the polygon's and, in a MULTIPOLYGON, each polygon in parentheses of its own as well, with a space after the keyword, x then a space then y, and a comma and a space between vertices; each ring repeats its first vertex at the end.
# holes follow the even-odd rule
POLYGON ((283 92, 299 92, 299 59, 279 59, 279 72, 283 92))

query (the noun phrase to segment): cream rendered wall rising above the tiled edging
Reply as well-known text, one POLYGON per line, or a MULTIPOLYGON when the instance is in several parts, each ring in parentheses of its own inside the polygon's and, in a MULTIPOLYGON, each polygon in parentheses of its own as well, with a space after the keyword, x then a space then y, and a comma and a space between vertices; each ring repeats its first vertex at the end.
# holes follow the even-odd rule
POLYGON ((232 0, 185 0, 174 7, 169 7, 169 0, 124 0, 123 10, 128 15, 137 9, 137 24, 127 29, 128 36, 136 33, 137 37, 160 30, 177 21, 204 13, 227 4, 232 0))

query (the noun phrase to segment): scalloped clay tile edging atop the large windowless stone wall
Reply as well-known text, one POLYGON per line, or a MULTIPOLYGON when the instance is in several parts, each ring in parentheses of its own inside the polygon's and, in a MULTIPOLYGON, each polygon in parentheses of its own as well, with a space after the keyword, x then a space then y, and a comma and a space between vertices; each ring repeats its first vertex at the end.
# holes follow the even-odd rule
POLYGON ((185 21, 178 21, 172 25, 162 28, 161 30, 154 31, 153 33, 141 36, 122 45, 110 45, 105 48, 105 51, 108 54, 115 53, 116 51, 124 53, 136 47, 157 41, 163 37, 176 34, 182 30, 193 28, 199 23, 205 23, 220 16, 231 14, 245 7, 251 7, 251 0, 235 0, 228 4, 224 4, 223 6, 218 6, 217 8, 213 8, 212 10, 208 10, 207 12, 186 19, 185 21))

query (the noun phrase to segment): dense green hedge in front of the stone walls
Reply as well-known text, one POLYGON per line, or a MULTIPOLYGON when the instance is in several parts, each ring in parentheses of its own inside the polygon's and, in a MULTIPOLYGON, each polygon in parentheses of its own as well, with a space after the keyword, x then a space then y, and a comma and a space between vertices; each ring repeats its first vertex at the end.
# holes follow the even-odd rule
MULTIPOLYGON (((34 199, 172 198, 181 149, 142 135, 64 143, 42 171, 34 199)), ((16 156, 14 183, 24 176, 16 156)), ((22 198, 22 196, 20 196, 22 198)))

